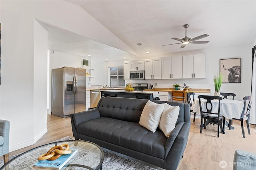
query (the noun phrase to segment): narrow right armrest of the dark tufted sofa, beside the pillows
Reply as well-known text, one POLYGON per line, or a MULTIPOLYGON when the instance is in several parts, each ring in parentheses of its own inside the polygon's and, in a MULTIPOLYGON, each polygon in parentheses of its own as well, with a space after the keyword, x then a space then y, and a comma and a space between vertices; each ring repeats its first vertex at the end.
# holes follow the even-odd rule
POLYGON ((172 144, 174 143, 176 137, 179 135, 180 130, 182 129, 183 125, 184 125, 184 122, 179 122, 173 129, 170 136, 168 137, 166 144, 165 144, 165 158, 168 155, 170 149, 172 148, 172 144))

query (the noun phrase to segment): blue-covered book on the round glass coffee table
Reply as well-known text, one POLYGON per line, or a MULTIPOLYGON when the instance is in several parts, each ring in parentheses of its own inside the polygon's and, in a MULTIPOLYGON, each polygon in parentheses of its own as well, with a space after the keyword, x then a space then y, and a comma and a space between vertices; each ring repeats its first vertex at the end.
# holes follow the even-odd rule
POLYGON ((71 154, 63 154, 56 160, 39 160, 33 164, 33 168, 44 170, 60 170, 77 152, 77 149, 72 150, 71 154))

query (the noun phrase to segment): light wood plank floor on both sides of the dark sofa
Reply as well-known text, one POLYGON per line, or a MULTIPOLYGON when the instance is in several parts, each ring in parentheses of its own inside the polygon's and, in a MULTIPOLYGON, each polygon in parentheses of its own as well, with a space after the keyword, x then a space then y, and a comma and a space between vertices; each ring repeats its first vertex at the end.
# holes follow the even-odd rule
MULTIPOLYGON (((222 169, 219 166, 221 160, 227 162, 227 167, 224 170, 232 170, 233 168, 229 164, 233 162, 235 150, 247 150, 256 153, 256 133, 254 133, 256 125, 250 125, 251 135, 248 135, 245 127, 246 138, 243 138, 240 122, 233 121, 232 126, 235 129, 226 129, 226 134, 220 133, 220 137, 217 138, 217 125, 208 125, 200 134, 200 119, 193 122, 191 118, 191 122, 188 144, 178 170, 218 170, 222 169)), ((34 145, 10 152, 10 156, 62 137, 73 137, 70 117, 61 118, 48 115, 47 128, 48 132, 34 145)))

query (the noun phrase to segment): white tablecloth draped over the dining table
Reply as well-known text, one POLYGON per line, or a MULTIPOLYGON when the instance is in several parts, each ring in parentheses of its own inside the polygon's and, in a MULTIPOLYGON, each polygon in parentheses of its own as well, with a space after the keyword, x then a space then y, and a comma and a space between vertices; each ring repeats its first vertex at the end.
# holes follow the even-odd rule
MULTIPOLYGON (((212 100, 212 112, 218 113, 218 100, 212 100)), ((201 99, 202 110, 206 111, 206 100, 201 99)), ((226 117, 226 119, 240 119, 244 102, 240 100, 223 99, 220 101, 220 115, 226 117)), ((193 112, 200 113, 199 99, 195 99, 191 109, 193 112)))

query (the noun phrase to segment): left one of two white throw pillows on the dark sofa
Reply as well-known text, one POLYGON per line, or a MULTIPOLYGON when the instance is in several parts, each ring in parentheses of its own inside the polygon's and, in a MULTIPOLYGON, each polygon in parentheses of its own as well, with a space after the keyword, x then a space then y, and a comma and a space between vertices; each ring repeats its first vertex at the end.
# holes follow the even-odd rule
POLYGON ((155 133, 163 110, 164 104, 156 104, 148 100, 140 115, 140 125, 155 133))

